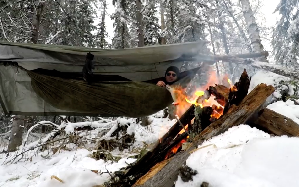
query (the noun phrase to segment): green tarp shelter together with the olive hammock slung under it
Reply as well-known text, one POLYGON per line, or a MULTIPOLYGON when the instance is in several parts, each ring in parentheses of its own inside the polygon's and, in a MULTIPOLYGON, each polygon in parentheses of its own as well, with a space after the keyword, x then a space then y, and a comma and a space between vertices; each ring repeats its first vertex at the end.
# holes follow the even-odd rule
MULTIPOLYGON (((0 42, 1 106, 8 115, 147 116, 173 102, 153 83, 204 44, 103 50, 0 42), (91 85, 81 74, 87 52, 95 56, 98 78, 91 85)), ((181 81, 188 82, 191 72, 181 81)))

